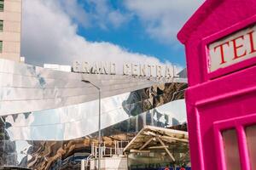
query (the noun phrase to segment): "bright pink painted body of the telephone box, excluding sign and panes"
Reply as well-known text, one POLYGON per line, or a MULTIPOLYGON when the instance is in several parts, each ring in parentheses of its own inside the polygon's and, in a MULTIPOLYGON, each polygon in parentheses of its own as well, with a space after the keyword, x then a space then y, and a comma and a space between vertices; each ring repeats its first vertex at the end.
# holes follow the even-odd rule
MULTIPOLYGON (((192 169, 230 170, 223 132, 236 129, 241 167, 253 170, 246 127, 256 125, 256 56, 209 72, 208 45, 256 24, 256 0, 207 0, 177 34, 186 49, 192 169)), ((256 138, 256 137, 255 137, 256 138)))

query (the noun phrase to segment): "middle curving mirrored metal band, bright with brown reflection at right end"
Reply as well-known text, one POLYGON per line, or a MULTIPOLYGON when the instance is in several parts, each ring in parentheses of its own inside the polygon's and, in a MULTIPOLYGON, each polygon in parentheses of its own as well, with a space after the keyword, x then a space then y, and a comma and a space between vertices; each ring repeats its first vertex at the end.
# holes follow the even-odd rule
MULTIPOLYGON (((154 111, 160 105, 172 105, 168 102, 183 99, 183 94, 179 94, 183 88, 186 88, 183 83, 167 83, 102 99, 102 128, 143 112, 154 111)), ((77 139, 97 131, 98 101, 4 118, 9 123, 6 131, 13 140, 77 139)))

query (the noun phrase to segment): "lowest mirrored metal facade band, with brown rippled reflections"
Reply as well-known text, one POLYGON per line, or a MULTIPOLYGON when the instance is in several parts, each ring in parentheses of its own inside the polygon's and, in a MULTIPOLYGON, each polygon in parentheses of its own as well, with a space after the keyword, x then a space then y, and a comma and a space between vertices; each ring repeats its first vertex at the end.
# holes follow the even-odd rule
MULTIPOLYGON (((143 128, 143 125, 154 125, 159 127, 172 126, 185 122, 185 111, 183 109, 183 100, 170 102, 161 105, 153 110, 144 112, 137 116, 113 124, 102 130, 103 140, 112 144, 113 139, 128 140, 136 132, 143 128), (177 109, 174 109, 177 108, 177 109), (178 111, 178 112, 177 112, 178 111), (109 138, 111 136, 111 138, 109 138)), ((16 119, 17 120, 17 119, 16 119)), ((79 131, 81 124, 77 124, 76 130, 79 131)), ((48 127, 48 126, 47 126, 48 127)), ((42 129, 41 129, 42 130, 42 129)), ((40 130, 36 133, 45 135, 40 130)), ((44 129, 43 129, 44 130, 44 129)), ((34 134, 36 134, 34 133, 34 134)), ((53 132, 55 133, 55 132, 53 132)), ((74 131, 72 132, 74 133, 74 131)), ((85 138, 71 139, 67 141, 44 141, 44 140, 12 140, 7 135, 6 139, 1 140, 0 149, 2 161, 0 165, 15 165, 20 167, 29 167, 32 169, 61 169, 61 167, 71 167, 79 163, 72 160, 79 160, 79 153, 88 156, 90 153, 90 144, 96 139, 97 133, 87 135, 85 138), (76 153, 76 154, 75 154, 76 153), (71 163, 73 162, 73 163, 71 163)), ((82 135, 82 134, 79 134, 82 135)), ((38 137, 37 137, 38 138, 38 137)))

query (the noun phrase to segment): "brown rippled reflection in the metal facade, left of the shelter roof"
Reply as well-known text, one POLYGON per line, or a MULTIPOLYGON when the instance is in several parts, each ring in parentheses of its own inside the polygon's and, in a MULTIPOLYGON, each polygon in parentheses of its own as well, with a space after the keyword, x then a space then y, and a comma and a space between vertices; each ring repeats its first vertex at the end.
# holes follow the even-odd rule
MULTIPOLYGON (((113 135, 103 137, 103 140, 108 146, 113 146, 114 140, 122 140, 124 138, 125 135, 113 135)), ((27 167, 37 170, 79 170, 79 160, 90 155, 90 145, 96 142, 96 138, 80 138, 69 141, 30 141, 30 143, 33 143, 33 147, 30 150, 32 159, 27 161, 27 167)))

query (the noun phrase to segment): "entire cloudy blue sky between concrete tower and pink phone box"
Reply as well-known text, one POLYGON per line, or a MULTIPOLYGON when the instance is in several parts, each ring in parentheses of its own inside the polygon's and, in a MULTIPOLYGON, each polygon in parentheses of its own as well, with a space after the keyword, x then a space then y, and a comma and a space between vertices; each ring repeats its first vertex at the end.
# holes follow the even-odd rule
POLYGON ((24 0, 21 54, 33 65, 73 60, 185 67, 177 31, 202 0, 24 0))

